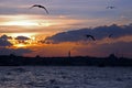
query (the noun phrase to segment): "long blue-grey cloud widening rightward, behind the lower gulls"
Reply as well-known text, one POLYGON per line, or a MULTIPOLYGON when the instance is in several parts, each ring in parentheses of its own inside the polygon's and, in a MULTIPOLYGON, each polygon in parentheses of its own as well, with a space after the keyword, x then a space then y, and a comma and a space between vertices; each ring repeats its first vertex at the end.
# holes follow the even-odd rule
POLYGON ((79 42, 86 41, 86 34, 94 35, 96 40, 102 40, 109 37, 112 34, 112 38, 118 38, 121 36, 132 35, 132 24, 118 26, 116 24, 110 26, 98 26, 94 29, 80 29, 68 32, 57 33, 53 36, 45 38, 44 43, 62 43, 62 42, 79 42))

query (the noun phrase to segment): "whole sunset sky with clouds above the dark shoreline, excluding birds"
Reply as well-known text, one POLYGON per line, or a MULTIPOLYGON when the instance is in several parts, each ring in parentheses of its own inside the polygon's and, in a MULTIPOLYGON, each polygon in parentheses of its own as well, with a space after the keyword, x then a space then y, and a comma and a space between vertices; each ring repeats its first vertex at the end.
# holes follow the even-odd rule
POLYGON ((52 57, 70 51, 72 56, 132 57, 131 4, 132 0, 0 0, 0 55, 52 57), (33 4, 44 6, 50 14, 30 9, 33 4))

